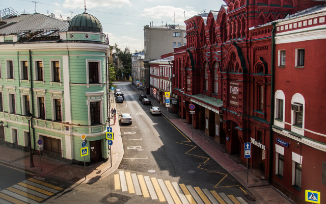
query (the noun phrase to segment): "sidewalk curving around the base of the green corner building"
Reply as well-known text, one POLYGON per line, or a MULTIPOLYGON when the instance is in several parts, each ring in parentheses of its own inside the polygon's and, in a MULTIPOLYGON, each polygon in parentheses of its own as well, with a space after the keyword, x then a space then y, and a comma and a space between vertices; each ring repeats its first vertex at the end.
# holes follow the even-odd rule
MULTIPOLYGON (((116 108, 115 102, 111 104, 111 108, 116 108)), ((111 120, 113 123, 113 119, 111 120)), ((112 145, 112 167, 110 156, 106 162, 98 162, 91 166, 86 166, 86 178, 84 166, 70 165, 58 160, 42 157, 42 171, 40 170, 40 157, 33 155, 34 168, 30 168, 30 153, 23 152, 16 149, 11 149, 0 145, 0 163, 33 172, 41 177, 50 177, 56 180, 76 183, 76 184, 90 184, 116 171, 123 158, 124 150, 122 146, 122 139, 120 133, 119 122, 115 125, 111 124, 114 133, 114 142, 112 145)))

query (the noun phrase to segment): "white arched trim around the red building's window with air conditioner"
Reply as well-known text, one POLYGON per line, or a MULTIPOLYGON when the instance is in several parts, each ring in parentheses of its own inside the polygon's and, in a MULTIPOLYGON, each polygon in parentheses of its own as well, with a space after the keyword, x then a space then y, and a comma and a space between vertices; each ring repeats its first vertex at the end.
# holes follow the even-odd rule
POLYGON ((299 134, 299 135, 302 135, 304 136, 305 135, 305 112, 306 112, 306 106, 305 106, 305 98, 303 95, 301 95, 300 93, 296 93, 292 96, 292 99, 291 99, 291 104, 294 104, 294 103, 297 103, 297 104, 302 104, 302 107, 304 109, 303 113, 302 113, 302 127, 297 127, 297 126, 294 126, 293 124, 295 124, 295 113, 294 111, 291 110, 291 132, 294 132, 296 134, 299 134))

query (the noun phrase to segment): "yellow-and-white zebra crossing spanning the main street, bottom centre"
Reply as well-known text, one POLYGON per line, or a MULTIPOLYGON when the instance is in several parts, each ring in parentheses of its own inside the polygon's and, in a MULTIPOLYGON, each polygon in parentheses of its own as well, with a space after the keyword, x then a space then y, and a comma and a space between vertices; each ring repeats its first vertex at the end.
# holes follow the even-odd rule
POLYGON ((168 204, 248 204, 242 197, 209 191, 191 185, 163 181, 156 177, 119 171, 114 175, 115 190, 129 192, 144 198, 168 202, 168 204))

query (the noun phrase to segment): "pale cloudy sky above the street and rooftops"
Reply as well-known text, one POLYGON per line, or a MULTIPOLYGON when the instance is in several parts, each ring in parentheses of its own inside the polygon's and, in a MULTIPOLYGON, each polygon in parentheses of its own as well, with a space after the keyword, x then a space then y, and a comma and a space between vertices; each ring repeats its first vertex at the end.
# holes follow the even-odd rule
MULTIPOLYGON (((32 1, 1 1, 0 10, 11 7, 18 12, 35 13, 32 1)), ((55 13, 56 17, 67 19, 84 12, 84 0, 35 1, 36 12, 45 15, 55 13)), ((99 19, 110 45, 129 47, 132 53, 144 48, 144 26, 150 22, 185 25, 184 19, 203 10, 219 11, 222 4, 222 0, 86 0, 87 12, 99 19)))

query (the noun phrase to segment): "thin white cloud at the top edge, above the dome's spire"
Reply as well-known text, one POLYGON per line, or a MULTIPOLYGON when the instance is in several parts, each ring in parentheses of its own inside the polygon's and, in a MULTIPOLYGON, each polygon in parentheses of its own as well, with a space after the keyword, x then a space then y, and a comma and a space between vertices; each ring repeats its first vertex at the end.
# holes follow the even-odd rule
MULTIPOLYGON (((86 2, 86 8, 92 9, 92 8, 99 8, 99 7, 105 7, 105 8, 115 8, 115 7, 122 7, 123 5, 129 5, 131 6, 131 2, 129 0, 92 0, 86 2)), ((66 7, 75 7, 75 8, 84 8, 84 0, 65 0, 65 3, 63 6, 66 7)))

